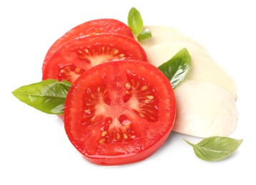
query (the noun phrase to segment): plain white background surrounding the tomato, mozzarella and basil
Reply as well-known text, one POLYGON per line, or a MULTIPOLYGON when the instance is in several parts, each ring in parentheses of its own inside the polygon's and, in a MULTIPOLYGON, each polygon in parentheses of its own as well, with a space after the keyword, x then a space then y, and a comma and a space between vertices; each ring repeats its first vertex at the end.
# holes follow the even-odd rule
POLYGON ((255 1, 1 1, 0 184, 255 184, 255 1), (220 162, 198 159, 172 132, 148 159, 122 166, 87 162, 72 146, 63 123, 19 102, 11 92, 41 80, 51 43, 95 18, 127 23, 136 7, 147 25, 178 28, 207 48, 237 82, 240 148, 220 162), (249 169, 250 168, 250 169, 249 169))

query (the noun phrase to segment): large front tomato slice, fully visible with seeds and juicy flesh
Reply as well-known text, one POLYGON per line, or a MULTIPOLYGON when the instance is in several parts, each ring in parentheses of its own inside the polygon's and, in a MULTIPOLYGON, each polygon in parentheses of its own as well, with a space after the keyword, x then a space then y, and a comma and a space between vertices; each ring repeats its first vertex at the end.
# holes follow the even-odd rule
POLYGON ((162 146, 175 114, 172 86, 162 72, 143 61, 112 61, 87 70, 72 84, 64 127, 90 162, 127 164, 162 146))

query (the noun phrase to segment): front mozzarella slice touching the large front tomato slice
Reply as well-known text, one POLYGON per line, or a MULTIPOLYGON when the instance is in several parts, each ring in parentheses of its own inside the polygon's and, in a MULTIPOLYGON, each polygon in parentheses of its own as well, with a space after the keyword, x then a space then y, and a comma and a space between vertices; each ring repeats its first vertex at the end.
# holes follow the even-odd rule
POLYGON ((174 131, 196 137, 227 137, 235 130, 236 102, 219 85, 187 80, 174 93, 177 101, 174 131))

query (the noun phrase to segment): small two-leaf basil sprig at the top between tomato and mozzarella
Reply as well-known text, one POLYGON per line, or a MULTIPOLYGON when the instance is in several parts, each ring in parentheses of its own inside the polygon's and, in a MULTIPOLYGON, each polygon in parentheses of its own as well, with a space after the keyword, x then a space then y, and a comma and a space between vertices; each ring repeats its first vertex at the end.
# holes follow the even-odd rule
POLYGON ((138 41, 152 37, 151 31, 144 29, 142 16, 134 7, 130 9, 128 14, 128 26, 131 28, 132 33, 137 36, 138 41))

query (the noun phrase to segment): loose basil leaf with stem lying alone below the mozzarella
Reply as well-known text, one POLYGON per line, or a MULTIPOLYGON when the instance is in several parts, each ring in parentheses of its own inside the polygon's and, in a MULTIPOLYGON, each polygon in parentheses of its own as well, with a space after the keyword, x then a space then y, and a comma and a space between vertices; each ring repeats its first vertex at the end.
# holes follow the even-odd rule
POLYGON ((197 144, 190 144, 195 154, 200 159, 206 161, 217 161, 229 157, 242 143, 242 139, 232 139, 230 137, 208 137, 197 144))

